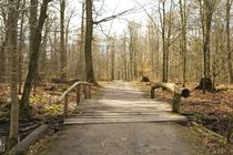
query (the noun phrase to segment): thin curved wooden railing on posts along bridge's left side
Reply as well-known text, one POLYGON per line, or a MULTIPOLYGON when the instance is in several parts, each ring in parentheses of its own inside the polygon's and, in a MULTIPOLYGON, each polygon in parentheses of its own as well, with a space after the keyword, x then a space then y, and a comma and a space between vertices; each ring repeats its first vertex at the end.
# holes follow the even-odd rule
POLYGON ((63 115, 64 117, 68 117, 68 111, 69 111, 69 93, 73 90, 77 91, 77 105, 80 103, 81 99, 81 86, 83 87, 83 94, 84 99, 91 99, 91 83, 88 82, 77 82, 72 86, 70 86, 67 91, 64 91, 59 99, 59 102, 64 101, 64 110, 63 115))

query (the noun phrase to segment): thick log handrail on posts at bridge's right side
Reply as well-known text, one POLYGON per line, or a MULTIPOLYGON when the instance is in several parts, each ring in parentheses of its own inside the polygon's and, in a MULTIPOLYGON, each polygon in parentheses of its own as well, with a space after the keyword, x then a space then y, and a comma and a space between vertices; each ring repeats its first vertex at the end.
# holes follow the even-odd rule
POLYGON ((172 112, 179 113, 181 97, 189 97, 190 90, 185 87, 180 87, 174 83, 154 83, 151 85, 151 99, 154 99, 155 89, 160 87, 165 89, 173 93, 172 112))

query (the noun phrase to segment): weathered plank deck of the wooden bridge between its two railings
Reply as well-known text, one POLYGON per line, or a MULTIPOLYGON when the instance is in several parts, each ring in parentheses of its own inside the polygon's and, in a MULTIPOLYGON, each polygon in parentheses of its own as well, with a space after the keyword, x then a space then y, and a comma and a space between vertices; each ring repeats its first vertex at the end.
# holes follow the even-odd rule
POLYGON ((186 122, 185 116, 171 111, 170 104, 146 97, 130 83, 111 82, 103 83, 100 97, 79 103, 64 124, 186 122))

